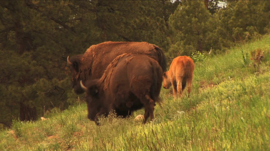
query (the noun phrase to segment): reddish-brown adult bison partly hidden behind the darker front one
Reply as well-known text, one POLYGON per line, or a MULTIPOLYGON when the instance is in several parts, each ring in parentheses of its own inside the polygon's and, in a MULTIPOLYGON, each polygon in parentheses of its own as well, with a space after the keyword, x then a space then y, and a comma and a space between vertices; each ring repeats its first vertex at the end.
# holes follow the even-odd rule
POLYGON ((166 71, 166 58, 161 48, 147 42, 103 42, 92 45, 83 55, 67 57, 72 73, 72 88, 82 94, 80 81, 100 78, 107 65, 123 53, 146 54, 157 60, 166 71))

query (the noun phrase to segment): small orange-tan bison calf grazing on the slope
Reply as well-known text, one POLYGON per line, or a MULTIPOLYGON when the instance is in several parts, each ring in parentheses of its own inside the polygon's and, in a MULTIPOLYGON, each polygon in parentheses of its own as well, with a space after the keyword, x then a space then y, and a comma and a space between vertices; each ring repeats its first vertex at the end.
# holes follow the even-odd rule
POLYGON ((169 89, 173 85, 173 95, 179 98, 187 83, 188 97, 191 91, 193 79, 194 62, 188 56, 178 56, 173 59, 170 69, 163 73, 163 87, 169 89))

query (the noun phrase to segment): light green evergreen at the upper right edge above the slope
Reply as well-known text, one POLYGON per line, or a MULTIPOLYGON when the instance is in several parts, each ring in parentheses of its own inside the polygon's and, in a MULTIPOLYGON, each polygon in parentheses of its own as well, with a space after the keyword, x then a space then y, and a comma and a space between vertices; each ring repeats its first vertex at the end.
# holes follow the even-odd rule
POLYGON ((270 4, 266 1, 230 1, 217 12, 219 43, 229 47, 236 42, 258 38, 269 31, 270 4))

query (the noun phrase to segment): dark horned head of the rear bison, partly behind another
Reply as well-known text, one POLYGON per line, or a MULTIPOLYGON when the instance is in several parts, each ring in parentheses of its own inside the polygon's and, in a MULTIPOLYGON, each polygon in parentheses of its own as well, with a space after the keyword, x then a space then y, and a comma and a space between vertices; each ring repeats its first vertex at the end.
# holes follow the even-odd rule
POLYGON ((70 72, 71 72, 71 85, 74 89, 74 92, 76 94, 82 94, 84 93, 83 89, 80 86, 81 81, 81 58, 83 55, 75 55, 69 58, 67 57, 66 61, 67 64, 70 65, 70 72))

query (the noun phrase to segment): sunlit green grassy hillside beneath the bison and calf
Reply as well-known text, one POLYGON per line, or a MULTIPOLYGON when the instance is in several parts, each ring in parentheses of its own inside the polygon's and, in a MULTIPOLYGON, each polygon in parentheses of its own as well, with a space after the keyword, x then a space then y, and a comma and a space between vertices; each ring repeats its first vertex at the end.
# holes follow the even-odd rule
POLYGON ((196 62, 190 98, 173 100, 162 89, 155 120, 110 115, 101 126, 87 119, 86 104, 48 120, 14 121, 0 132, 0 150, 269 150, 270 36, 196 62), (264 51, 262 60, 250 60, 264 51), (261 63, 260 63, 261 61, 261 63))

